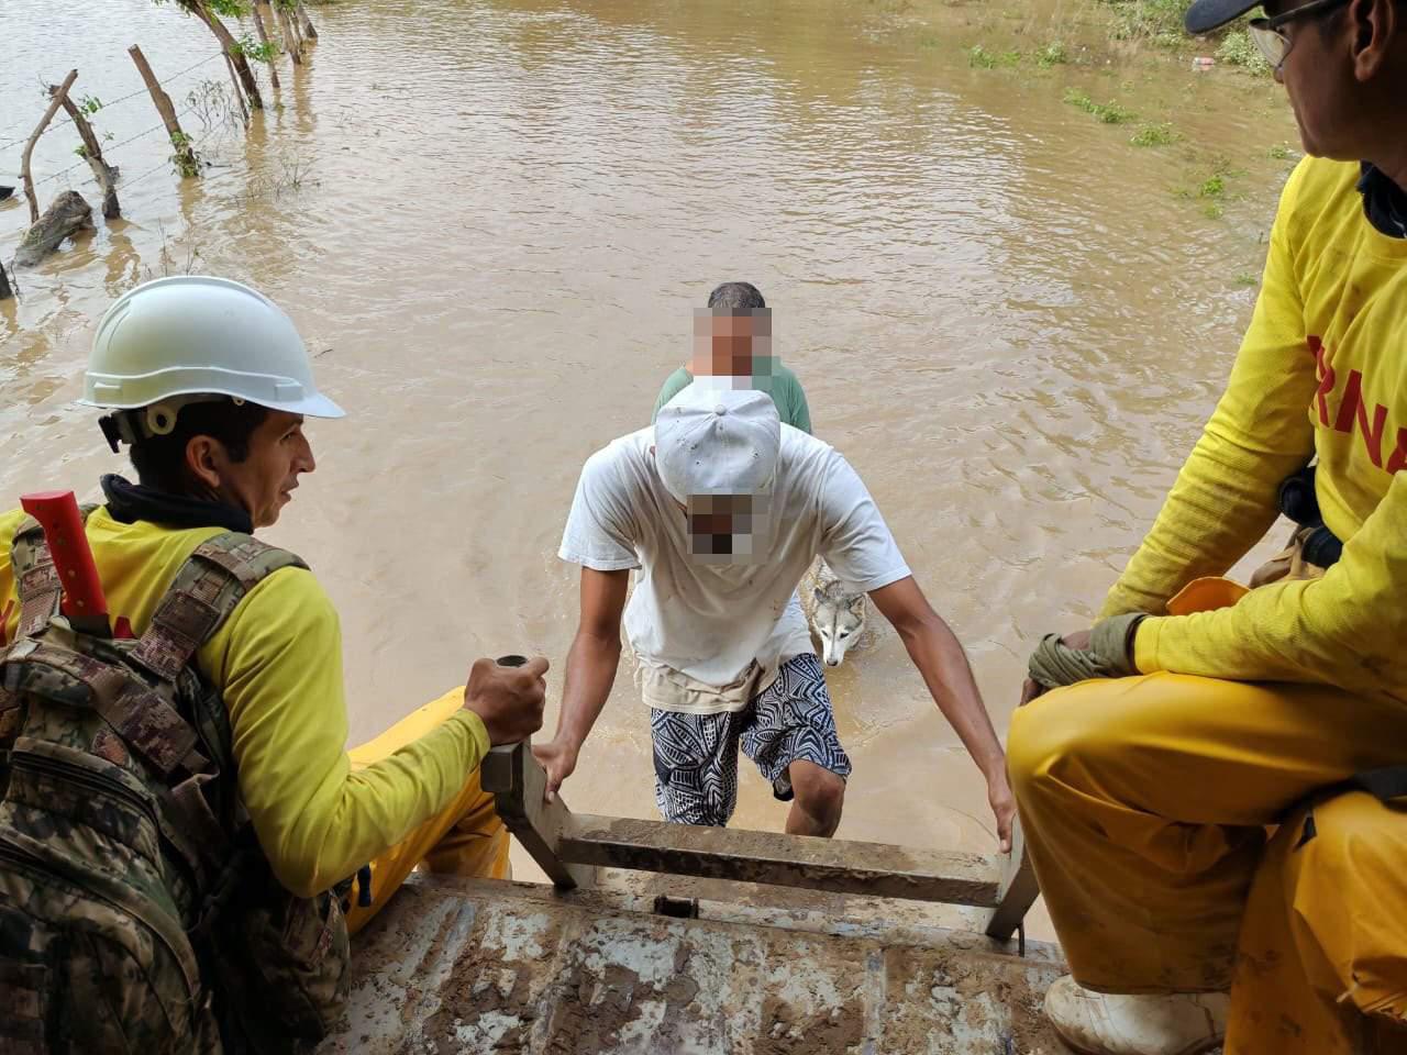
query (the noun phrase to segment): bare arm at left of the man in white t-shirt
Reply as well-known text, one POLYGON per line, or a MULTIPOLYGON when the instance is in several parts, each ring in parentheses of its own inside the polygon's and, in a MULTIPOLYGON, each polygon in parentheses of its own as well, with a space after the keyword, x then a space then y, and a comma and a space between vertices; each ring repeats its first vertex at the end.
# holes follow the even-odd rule
POLYGON ((557 734, 533 747, 533 755, 547 771, 549 802, 577 768, 581 744, 611 695, 620 663, 620 613, 629 582, 629 571, 581 568, 581 618, 567 653, 557 734))

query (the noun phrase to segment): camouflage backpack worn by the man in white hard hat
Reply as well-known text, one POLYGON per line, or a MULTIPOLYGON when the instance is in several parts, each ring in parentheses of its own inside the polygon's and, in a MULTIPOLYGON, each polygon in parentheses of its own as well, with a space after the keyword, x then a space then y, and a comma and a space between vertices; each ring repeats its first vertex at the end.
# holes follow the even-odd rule
MULTIPOLYGON (((84 519, 91 506, 83 509, 84 519)), ((229 719, 191 658, 291 553, 229 532, 138 640, 76 632, 38 523, 0 647, 0 1051, 295 1051, 346 999, 350 883, 300 899, 239 802, 229 719)))

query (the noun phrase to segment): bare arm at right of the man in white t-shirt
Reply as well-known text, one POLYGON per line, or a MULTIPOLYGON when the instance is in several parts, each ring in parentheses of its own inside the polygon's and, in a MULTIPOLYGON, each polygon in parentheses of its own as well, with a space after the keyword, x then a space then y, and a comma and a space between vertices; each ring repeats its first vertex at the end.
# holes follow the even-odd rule
POLYGON ((1002 852, 1009 852, 1016 800, 1006 779, 1006 755, 982 703, 982 695, 976 689, 962 646, 943 618, 933 610, 912 575, 872 591, 870 598, 899 632, 913 665, 919 668, 929 692, 933 693, 934 703, 986 778, 988 802, 996 816, 996 836, 1002 852))

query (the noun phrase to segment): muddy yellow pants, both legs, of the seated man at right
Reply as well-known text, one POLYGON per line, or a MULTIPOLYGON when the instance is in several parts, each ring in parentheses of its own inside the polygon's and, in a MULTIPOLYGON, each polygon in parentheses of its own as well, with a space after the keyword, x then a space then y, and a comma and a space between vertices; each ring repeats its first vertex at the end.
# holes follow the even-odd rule
POLYGON ((1081 985, 1230 986, 1225 1055, 1356 1055, 1355 1031, 1377 1028, 1356 1011, 1407 1018, 1407 805, 1306 806, 1407 761, 1407 706, 1152 674, 1048 692, 1016 712, 1009 744, 1081 985))

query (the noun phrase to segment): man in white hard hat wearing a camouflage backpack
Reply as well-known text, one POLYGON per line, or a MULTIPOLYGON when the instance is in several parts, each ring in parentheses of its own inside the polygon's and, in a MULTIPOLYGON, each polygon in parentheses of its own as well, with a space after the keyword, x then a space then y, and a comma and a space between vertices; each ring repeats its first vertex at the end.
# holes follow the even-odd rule
POLYGON ((336 1020, 349 928, 419 862, 507 876, 478 764, 542 724, 547 663, 480 660, 349 755, 336 610, 252 537, 315 468, 304 418, 343 412, 255 290, 132 290, 82 402, 138 482, 103 478, 86 546, 0 513, 0 1048, 286 1051, 336 1020), (106 620, 91 589, 70 609, 79 550, 106 620))

